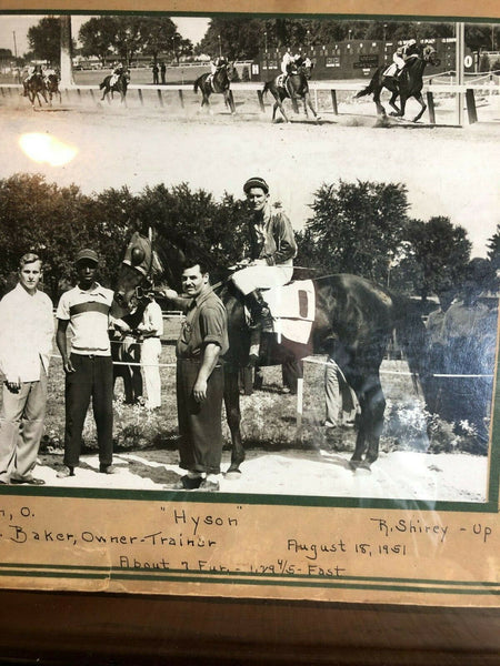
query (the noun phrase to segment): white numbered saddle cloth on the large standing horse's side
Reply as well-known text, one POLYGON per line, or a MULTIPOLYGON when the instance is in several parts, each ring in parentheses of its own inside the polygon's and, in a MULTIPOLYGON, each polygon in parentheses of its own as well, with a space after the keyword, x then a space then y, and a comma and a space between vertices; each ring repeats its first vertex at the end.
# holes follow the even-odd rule
POLYGON ((316 316, 316 292, 312 280, 298 280, 284 286, 261 290, 273 321, 273 333, 307 344, 316 316))

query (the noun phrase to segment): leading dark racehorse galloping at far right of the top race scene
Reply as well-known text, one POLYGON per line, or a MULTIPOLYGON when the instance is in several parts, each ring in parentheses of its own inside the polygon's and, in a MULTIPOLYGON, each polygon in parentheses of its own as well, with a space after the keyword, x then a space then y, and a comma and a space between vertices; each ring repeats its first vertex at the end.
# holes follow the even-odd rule
MULTIPOLYGON (((377 105, 377 113, 379 115, 386 117, 386 109, 380 102, 380 93, 383 88, 387 88, 392 95, 389 100, 389 104, 394 110, 391 115, 396 115, 398 118, 402 118, 404 115, 404 109, 407 105, 407 101, 410 98, 414 98, 420 104, 420 112, 413 118, 412 122, 417 122, 423 115, 423 112, 427 109, 427 104, 422 98, 422 87, 423 87, 423 70, 426 65, 439 65, 438 54, 436 49, 431 46, 423 47, 420 50, 420 53, 417 54, 416 58, 409 60, 399 78, 393 75, 388 75, 386 65, 379 67, 379 69, 373 74, 370 84, 363 90, 360 90, 354 99, 361 98, 366 94, 373 94, 373 101, 377 105), (396 105, 396 100, 400 98, 400 108, 396 105)), ((392 67, 392 65, 391 65, 392 67)))

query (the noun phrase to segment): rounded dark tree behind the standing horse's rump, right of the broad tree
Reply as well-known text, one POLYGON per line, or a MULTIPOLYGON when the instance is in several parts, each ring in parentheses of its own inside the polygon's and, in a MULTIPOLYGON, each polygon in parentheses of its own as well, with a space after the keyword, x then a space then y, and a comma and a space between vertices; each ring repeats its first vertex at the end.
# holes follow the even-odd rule
POLYGON ((470 260, 471 243, 462 226, 449 218, 436 216, 428 222, 410 220, 406 233, 406 256, 394 271, 398 284, 410 282, 426 300, 459 284, 470 260))

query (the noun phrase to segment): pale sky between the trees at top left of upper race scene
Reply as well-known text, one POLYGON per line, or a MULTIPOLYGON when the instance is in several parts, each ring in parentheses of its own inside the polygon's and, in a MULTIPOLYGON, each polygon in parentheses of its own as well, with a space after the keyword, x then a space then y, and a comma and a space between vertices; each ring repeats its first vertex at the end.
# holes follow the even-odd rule
MULTIPOLYGON (((10 49, 12 53, 22 56, 28 51, 28 30, 31 26, 36 26, 41 16, 20 16, 20 14, 3 14, 0 16, 0 49, 10 49), (16 47, 14 34, 16 33, 16 47)), ((88 21, 90 16, 73 16, 71 17, 72 36, 78 37, 78 31, 82 23, 88 21)), ((208 23, 208 18, 204 17, 172 17, 178 31, 183 38, 190 39, 193 44, 198 43, 204 36, 208 23)))

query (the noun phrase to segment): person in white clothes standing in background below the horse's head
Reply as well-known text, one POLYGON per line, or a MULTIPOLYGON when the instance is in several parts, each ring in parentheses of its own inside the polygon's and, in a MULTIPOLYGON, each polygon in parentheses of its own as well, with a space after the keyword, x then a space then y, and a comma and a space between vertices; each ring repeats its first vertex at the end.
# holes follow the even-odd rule
POLYGON ((161 307, 154 300, 154 294, 148 294, 150 302, 146 306, 142 322, 138 331, 142 334, 142 373, 148 410, 157 410, 161 406, 161 379, 160 379, 160 354, 161 335, 163 335, 163 315, 161 307))

